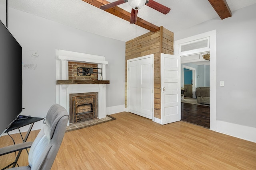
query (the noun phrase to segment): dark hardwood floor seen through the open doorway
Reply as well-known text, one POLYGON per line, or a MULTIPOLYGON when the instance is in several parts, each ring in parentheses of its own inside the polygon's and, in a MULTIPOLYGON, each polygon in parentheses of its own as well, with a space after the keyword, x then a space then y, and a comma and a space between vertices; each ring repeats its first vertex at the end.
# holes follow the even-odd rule
POLYGON ((210 107, 182 102, 181 120, 210 128, 210 107))

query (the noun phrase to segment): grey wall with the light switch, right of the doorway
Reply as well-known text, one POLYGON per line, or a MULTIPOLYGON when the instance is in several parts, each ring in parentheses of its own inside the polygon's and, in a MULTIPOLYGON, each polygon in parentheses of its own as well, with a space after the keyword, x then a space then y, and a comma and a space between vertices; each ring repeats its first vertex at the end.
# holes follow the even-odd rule
POLYGON ((256 4, 233 12, 230 18, 215 18, 174 32, 174 41, 214 29, 216 120, 252 127, 256 136, 256 4), (220 81, 224 81, 224 87, 220 87, 220 81))

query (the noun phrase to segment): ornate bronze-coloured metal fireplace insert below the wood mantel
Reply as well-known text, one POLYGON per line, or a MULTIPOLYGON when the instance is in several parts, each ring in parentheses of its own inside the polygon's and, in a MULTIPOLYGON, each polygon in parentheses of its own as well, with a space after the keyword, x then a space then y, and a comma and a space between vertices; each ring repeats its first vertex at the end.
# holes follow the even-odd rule
POLYGON ((98 93, 70 94, 70 124, 98 117, 98 93))

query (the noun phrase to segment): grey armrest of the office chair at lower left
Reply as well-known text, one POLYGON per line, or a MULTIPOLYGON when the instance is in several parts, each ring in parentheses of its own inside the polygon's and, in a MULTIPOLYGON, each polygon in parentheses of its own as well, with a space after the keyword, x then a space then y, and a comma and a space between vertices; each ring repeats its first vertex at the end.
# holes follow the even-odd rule
POLYGON ((33 142, 24 142, 24 143, 18 143, 16 145, 0 148, 0 156, 4 154, 16 152, 19 150, 23 150, 23 149, 28 149, 31 147, 32 143, 33 142))

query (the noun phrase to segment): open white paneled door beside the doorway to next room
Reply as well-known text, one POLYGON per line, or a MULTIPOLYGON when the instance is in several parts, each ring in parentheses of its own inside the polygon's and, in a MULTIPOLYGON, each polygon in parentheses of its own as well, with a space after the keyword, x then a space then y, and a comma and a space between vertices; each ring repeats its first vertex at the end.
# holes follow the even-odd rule
POLYGON ((180 57, 161 53, 161 124, 181 120, 180 57))

